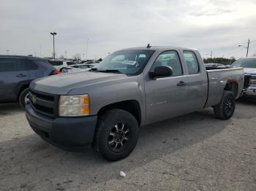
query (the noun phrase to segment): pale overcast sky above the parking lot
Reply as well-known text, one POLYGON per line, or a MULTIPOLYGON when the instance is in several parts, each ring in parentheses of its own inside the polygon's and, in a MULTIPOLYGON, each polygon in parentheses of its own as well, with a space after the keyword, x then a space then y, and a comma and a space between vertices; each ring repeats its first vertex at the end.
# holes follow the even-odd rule
MULTIPOLYGON (((50 56, 56 31, 57 57, 86 52, 104 58, 126 47, 174 45, 203 57, 256 54, 255 0, 1 0, 0 54, 50 56)), ((86 55, 85 55, 86 57, 86 55)))

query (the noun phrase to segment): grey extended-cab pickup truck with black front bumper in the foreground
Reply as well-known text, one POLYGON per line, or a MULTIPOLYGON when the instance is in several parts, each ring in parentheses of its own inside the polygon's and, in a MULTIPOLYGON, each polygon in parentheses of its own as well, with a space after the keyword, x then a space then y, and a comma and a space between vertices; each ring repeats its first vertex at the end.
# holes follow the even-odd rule
POLYGON ((42 139, 65 148, 91 144, 108 160, 129 155, 139 127, 213 106, 232 117, 242 68, 206 71, 197 50, 137 47, 108 55, 93 69, 31 82, 26 117, 42 139))

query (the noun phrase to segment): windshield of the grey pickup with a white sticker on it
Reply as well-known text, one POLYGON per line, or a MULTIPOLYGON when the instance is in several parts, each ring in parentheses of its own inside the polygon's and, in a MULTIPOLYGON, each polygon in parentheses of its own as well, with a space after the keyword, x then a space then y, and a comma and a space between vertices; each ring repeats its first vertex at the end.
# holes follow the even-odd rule
POLYGON ((91 71, 140 74, 154 50, 120 50, 103 59, 91 71))

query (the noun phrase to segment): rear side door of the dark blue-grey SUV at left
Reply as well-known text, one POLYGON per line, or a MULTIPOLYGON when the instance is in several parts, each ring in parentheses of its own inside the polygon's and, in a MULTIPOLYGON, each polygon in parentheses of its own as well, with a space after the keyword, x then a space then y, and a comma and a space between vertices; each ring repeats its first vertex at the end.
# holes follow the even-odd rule
POLYGON ((15 101, 16 87, 29 79, 29 73, 20 58, 0 58, 0 100, 15 101))

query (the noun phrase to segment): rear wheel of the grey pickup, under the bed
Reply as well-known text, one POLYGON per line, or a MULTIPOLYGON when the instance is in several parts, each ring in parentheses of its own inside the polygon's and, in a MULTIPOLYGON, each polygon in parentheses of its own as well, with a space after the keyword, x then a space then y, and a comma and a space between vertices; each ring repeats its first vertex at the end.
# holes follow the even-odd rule
POLYGON ((216 106, 214 106, 215 117, 221 120, 228 120, 233 116, 236 109, 236 98, 233 92, 224 91, 222 94, 222 100, 216 106))

